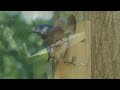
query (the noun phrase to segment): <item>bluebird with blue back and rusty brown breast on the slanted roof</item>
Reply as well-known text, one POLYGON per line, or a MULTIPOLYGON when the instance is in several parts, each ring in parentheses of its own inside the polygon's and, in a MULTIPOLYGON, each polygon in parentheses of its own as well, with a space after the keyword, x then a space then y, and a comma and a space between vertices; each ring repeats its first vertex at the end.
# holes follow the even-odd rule
POLYGON ((51 58, 51 53, 53 52, 50 45, 61 40, 64 37, 64 31, 59 26, 53 26, 48 24, 39 25, 33 32, 38 33, 44 40, 45 47, 48 51, 48 61, 51 58))

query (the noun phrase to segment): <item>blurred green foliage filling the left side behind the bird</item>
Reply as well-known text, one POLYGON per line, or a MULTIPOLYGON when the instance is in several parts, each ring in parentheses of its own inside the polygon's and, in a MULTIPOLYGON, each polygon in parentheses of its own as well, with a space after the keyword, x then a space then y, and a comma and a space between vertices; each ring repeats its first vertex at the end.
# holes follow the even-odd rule
MULTIPOLYGON (((53 24, 54 20, 41 21, 37 19, 32 24, 27 24, 21 17, 21 12, 0 12, 1 79, 29 79, 34 77, 33 64, 28 64, 27 60, 30 55, 40 51, 44 46, 41 37, 31 31, 32 27, 42 23, 53 24)), ((44 65, 41 64, 41 66, 44 65)), ((50 68, 50 65, 47 66, 49 66, 46 67, 47 69, 50 68)), ((40 68, 40 72, 48 71, 40 68)))

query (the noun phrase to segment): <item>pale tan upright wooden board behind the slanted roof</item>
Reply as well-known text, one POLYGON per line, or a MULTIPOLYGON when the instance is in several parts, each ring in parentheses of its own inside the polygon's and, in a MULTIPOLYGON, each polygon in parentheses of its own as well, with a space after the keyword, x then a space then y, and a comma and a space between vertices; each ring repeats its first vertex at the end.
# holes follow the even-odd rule
POLYGON ((70 47, 59 62, 56 71, 55 79, 90 79, 91 78, 91 22, 84 21, 77 23, 76 34, 85 32, 85 41, 79 42, 70 47), (66 64, 64 61, 71 61, 75 56, 75 65, 66 64))

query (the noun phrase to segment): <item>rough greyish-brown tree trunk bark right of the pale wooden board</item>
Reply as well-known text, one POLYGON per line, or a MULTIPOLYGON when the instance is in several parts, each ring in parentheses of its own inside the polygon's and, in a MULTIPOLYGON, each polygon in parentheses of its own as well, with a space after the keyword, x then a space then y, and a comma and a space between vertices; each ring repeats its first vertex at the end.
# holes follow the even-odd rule
POLYGON ((86 12, 92 21, 92 78, 120 78, 120 12, 86 12))

